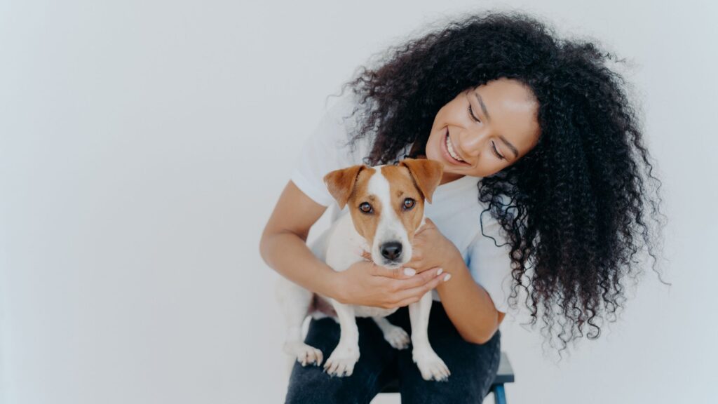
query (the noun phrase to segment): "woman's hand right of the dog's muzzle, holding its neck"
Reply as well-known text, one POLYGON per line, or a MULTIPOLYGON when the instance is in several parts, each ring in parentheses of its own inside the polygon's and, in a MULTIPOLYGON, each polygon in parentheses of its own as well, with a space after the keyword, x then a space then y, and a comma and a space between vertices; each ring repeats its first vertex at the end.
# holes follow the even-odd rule
POLYGON ((454 243, 444 237, 433 221, 426 218, 424 226, 414 234, 414 241, 411 242, 411 261, 406 262, 404 267, 421 273, 442 267, 444 263, 455 259, 464 260, 454 243))

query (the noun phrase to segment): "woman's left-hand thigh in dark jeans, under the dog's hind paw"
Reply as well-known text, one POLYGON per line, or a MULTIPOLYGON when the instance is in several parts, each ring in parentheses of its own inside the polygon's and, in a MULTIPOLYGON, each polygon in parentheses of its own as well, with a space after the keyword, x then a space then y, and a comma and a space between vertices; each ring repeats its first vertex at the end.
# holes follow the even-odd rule
MULTIPOLYGON (((294 362, 286 403, 369 403, 381 388, 396 377, 396 349, 383 338, 371 318, 357 318, 359 361, 353 374, 332 377, 322 366, 302 367, 294 362)), ((312 319, 306 344, 322 351, 324 362, 339 343, 340 328, 332 318, 312 319)))

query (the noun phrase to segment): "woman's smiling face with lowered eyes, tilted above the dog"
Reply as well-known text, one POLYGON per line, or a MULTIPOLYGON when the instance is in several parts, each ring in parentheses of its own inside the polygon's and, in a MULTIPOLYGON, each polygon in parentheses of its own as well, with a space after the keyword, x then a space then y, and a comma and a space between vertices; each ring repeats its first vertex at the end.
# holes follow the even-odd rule
POLYGON ((442 183, 498 173, 536 146, 537 112, 533 93, 519 81, 500 78, 469 88, 437 112, 426 158, 444 165, 442 183))

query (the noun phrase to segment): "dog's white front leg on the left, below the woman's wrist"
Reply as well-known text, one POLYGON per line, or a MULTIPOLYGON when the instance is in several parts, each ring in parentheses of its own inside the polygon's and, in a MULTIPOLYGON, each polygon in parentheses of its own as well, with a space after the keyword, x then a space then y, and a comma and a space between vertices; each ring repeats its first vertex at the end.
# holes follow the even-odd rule
POLYGON ((332 376, 351 376, 359 360, 359 329, 354 316, 354 306, 338 303, 332 299, 332 306, 339 318, 339 344, 324 364, 332 376))

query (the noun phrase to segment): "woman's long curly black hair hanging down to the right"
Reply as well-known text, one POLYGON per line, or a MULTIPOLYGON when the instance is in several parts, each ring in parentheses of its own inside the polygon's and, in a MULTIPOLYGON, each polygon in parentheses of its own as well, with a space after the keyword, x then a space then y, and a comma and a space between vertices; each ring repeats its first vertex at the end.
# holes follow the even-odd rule
POLYGON ((359 96, 353 142, 376 135, 368 164, 396 163, 407 144, 425 145, 437 111, 467 88, 511 78, 531 89, 538 144, 482 178, 478 199, 511 246, 510 306, 523 288, 530 325, 541 317, 551 346, 558 325, 559 354, 584 329, 596 339, 605 319, 616 320, 625 280, 642 272, 639 253, 661 279, 661 181, 628 83, 610 61, 625 62, 594 43, 557 39, 535 17, 487 12, 390 48, 342 86, 359 96))

